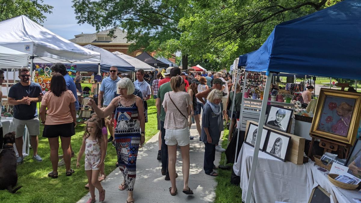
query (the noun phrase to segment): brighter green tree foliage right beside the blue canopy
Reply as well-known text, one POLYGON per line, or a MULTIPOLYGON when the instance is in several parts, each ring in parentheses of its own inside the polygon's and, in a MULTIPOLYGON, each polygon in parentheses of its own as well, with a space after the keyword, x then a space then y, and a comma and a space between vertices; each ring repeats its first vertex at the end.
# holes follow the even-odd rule
POLYGON ((197 59, 234 59, 258 49, 275 25, 329 7, 341 0, 193 1, 179 22, 180 43, 197 59))

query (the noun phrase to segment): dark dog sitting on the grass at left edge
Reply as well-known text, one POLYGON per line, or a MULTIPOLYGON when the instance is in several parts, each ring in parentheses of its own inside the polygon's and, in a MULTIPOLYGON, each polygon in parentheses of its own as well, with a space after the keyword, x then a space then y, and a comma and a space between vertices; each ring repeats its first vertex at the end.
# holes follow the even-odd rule
POLYGON ((15 142, 15 133, 8 133, 4 136, 4 146, 0 151, 0 190, 9 190, 10 193, 16 193, 19 186, 13 189, 18 182, 18 174, 16 173, 16 156, 13 148, 15 142))

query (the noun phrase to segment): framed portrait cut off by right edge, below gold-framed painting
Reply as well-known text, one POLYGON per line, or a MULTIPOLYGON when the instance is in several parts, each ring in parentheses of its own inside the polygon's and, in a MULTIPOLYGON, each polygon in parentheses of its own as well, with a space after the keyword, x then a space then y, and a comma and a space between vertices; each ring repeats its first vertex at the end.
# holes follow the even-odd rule
POLYGON ((346 165, 349 170, 348 173, 361 178, 361 140, 356 140, 355 146, 353 146, 351 155, 346 161, 346 165))

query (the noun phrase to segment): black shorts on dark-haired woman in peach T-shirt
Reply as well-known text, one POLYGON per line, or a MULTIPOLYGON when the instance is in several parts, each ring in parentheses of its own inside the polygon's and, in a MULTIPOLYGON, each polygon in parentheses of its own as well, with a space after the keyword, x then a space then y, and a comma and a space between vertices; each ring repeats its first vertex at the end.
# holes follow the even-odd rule
POLYGON ((75 135, 74 123, 58 124, 58 125, 45 125, 43 130, 43 137, 56 138, 71 137, 75 135))

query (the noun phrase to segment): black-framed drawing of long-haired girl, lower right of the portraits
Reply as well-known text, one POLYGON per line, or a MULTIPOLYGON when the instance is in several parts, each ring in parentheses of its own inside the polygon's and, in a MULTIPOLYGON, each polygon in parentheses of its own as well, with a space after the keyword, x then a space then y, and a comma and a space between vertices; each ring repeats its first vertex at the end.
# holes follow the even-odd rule
POLYGON ((269 130, 265 152, 271 156, 276 157, 277 159, 286 161, 285 159, 290 141, 290 136, 269 130))

